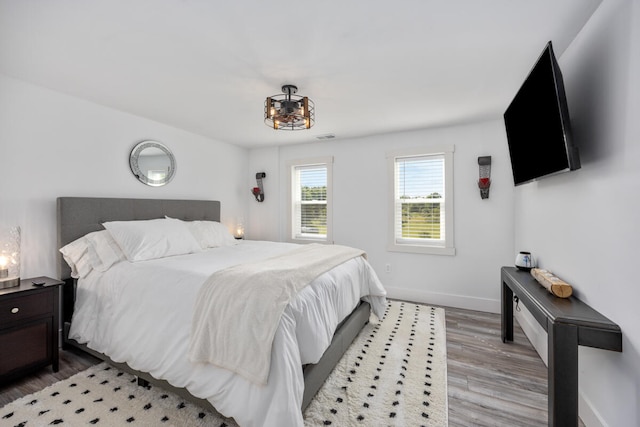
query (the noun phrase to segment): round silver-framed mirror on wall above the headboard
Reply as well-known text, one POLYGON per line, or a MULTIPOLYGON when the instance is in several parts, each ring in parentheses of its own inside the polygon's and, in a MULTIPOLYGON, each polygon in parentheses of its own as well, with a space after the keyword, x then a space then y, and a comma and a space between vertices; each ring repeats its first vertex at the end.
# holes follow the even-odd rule
POLYGON ((129 165, 140 182, 152 187, 167 184, 176 173, 173 153, 158 141, 142 141, 133 147, 129 165))

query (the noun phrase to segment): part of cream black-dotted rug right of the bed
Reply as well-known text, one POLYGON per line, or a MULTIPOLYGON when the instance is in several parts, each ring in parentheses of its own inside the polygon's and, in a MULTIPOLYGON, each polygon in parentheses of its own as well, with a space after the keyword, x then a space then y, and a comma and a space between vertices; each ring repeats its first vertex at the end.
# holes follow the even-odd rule
POLYGON ((446 426, 444 309, 389 301, 305 412, 308 426, 446 426))

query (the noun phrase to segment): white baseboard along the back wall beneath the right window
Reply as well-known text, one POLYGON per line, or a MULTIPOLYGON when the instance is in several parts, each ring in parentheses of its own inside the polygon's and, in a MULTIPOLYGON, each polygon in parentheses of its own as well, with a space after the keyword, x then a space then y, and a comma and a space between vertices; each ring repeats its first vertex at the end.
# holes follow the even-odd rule
POLYGON ((488 313, 500 313, 500 300, 445 294, 440 292, 428 292, 393 286, 385 286, 385 289, 387 290, 387 297, 392 299, 464 308, 467 310, 477 310, 488 313))

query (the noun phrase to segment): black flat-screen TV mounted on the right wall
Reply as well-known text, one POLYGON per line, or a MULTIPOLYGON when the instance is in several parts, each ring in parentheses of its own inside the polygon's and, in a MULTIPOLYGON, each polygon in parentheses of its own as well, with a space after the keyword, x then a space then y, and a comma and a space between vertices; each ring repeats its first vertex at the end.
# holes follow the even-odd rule
POLYGON ((515 185, 580 168, 551 42, 505 111, 504 122, 515 185))

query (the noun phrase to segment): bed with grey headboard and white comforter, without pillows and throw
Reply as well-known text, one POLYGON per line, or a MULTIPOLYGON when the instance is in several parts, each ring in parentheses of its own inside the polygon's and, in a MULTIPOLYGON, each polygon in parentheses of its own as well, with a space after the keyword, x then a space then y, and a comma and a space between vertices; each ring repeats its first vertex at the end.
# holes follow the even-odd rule
MULTIPOLYGON (((102 224, 110 221, 152 220, 166 216, 193 223, 219 222, 220 202, 61 197, 57 201, 57 212, 58 247, 62 248, 88 233, 104 230, 102 224)), ((302 425, 302 411, 310 403, 360 329, 369 320, 371 310, 381 313, 386 304, 384 289, 366 260, 357 257, 323 274, 317 281, 314 280, 312 284, 300 291, 300 295, 287 306, 286 316, 283 315, 274 338, 269 381, 263 385, 248 381, 238 374, 219 367, 188 360, 187 352, 184 350, 188 345, 183 341, 188 339, 190 325, 185 323, 189 323, 191 316, 189 307, 193 305, 198 294, 193 290, 193 285, 189 285, 188 288, 178 288, 170 282, 164 283, 160 280, 161 277, 168 277, 176 282, 196 283, 210 273, 209 270, 200 267, 201 260, 194 261, 196 258, 211 257, 206 261, 211 263, 211 259, 226 259, 224 257, 227 257, 229 252, 231 254, 229 261, 222 262, 218 267, 212 267, 218 269, 225 265, 233 265, 240 259, 254 262, 258 257, 280 254, 290 249, 287 245, 290 244, 242 241, 238 245, 229 247, 228 250, 220 249, 219 252, 216 252, 219 248, 212 248, 193 256, 180 255, 139 263, 120 262, 105 272, 95 272, 95 274, 92 272, 80 280, 71 277, 71 268, 60 254, 59 277, 65 280, 64 344, 80 348, 106 360, 119 369, 136 375, 142 383, 149 382, 161 386, 203 407, 213 408, 225 416, 233 417, 242 426, 302 425), (224 256, 220 255, 223 252, 224 256), (348 264, 358 264, 357 268, 360 270, 357 274, 346 270, 341 271, 342 268, 346 269, 348 264), (133 272, 128 270, 131 265, 136 267, 133 272), (323 288, 325 285, 319 284, 320 282, 337 283, 340 286, 336 288, 341 289, 342 282, 360 281, 365 276, 367 283, 354 285, 359 287, 358 291, 338 291, 340 293, 332 297, 340 303, 322 300, 324 297, 321 295, 327 291, 323 288), (129 283, 130 277, 134 278, 133 283, 129 283), (153 285, 145 284, 145 280, 141 277, 153 277, 153 285), (109 289, 111 293, 107 294, 105 289, 109 289), (106 295, 104 301, 108 303, 96 296, 101 293, 106 295), (161 304, 159 302, 162 301, 161 296, 170 301, 172 309, 167 310, 166 306, 153 309, 153 306, 161 304), (105 306, 87 305, 89 300, 92 301, 91 304, 105 306), (118 305, 116 304, 118 301, 128 302, 118 303, 118 305), (338 305, 341 307, 334 307, 338 305), (125 312, 125 310, 129 311, 125 312), (156 312, 162 312, 162 310, 170 312, 171 315, 164 318, 157 317, 156 312), (110 315, 112 311, 114 314, 110 315), (329 311, 331 314, 326 314, 329 311), (82 313, 85 313, 84 318, 82 313), (94 323, 99 321, 107 325, 104 326, 107 333, 91 332, 88 327, 83 326, 91 323, 86 321, 86 313, 90 313, 94 323), (325 314, 318 315, 318 313, 325 314), (130 318, 132 320, 126 320, 129 318, 127 316, 132 316, 130 318), (306 320, 304 316, 314 317, 314 319, 335 317, 333 320, 335 324, 330 321, 323 326, 331 330, 328 339, 314 337, 311 329, 315 328, 313 322, 317 319, 312 322, 306 320), (114 323, 107 323, 110 321, 107 318, 113 318, 114 323), (123 327, 124 321, 130 321, 140 327, 123 327), (157 349, 154 350, 156 344, 145 341, 148 336, 154 335, 152 331, 157 330, 163 333, 167 331, 166 335, 160 335, 167 340, 167 348, 171 349, 165 352, 166 354, 161 358, 163 360, 152 357, 158 353, 157 349), (100 342, 96 336, 100 337, 101 334, 108 335, 108 339, 100 342), (293 341, 289 341, 291 336, 295 336, 293 341), (130 342, 142 345, 132 346, 130 342), (311 347, 316 348, 306 348, 309 342, 315 342, 311 347), (280 346, 284 350, 281 350, 280 346), (283 353, 278 353, 280 351, 283 353), (250 406, 247 407, 247 405, 250 406)), ((320 332, 317 333, 322 335, 322 328, 318 331, 320 332)))

